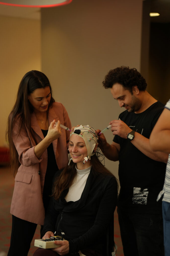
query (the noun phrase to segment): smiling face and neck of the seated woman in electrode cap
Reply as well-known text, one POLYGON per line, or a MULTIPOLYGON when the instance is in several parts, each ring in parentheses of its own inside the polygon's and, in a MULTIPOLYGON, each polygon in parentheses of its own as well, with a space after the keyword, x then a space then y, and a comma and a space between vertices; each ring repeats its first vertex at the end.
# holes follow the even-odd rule
POLYGON ((69 152, 73 162, 77 165, 77 169, 83 170, 91 165, 90 160, 83 164, 84 158, 87 157, 87 147, 85 141, 79 135, 71 135, 69 152))

